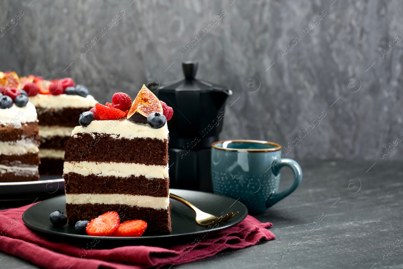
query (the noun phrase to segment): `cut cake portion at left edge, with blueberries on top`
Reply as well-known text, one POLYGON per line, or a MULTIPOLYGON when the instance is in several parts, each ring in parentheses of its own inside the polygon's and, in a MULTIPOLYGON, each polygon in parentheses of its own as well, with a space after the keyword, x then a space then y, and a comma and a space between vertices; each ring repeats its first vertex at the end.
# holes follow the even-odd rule
POLYGON ((0 182, 39 179, 38 120, 27 102, 28 97, 15 98, 13 104, 10 96, 0 96, 0 182), (25 105, 16 105, 24 104, 20 99, 25 105))

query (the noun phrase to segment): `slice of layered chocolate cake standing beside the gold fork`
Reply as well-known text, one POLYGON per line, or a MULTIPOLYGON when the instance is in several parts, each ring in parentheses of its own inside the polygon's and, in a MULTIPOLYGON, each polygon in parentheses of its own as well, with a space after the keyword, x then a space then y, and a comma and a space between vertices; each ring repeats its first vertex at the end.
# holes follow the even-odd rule
MULTIPOLYGON (((162 112, 154 98, 157 111, 162 112)), ((116 211, 121 222, 141 219, 147 222, 147 231, 168 232, 166 120, 155 113, 149 124, 130 121, 125 112, 130 103, 127 94, 116 93, 112 104, 96 104, 80 117, 82 126, 74 128, 64 156, 66 215, 75 223, 116 211)))

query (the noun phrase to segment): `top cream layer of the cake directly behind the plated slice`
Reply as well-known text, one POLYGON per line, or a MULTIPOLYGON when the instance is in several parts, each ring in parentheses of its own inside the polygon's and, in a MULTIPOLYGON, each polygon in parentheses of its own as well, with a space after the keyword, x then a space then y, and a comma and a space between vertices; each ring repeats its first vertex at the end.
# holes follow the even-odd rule
POLYGON ((67 95, 67 94, 38 94, 36 96, 30 96, 29 102, 35 107, 61 109, 66 107, 94 107, 98 103, 91 95, 82 97, 79 95, 67 95))

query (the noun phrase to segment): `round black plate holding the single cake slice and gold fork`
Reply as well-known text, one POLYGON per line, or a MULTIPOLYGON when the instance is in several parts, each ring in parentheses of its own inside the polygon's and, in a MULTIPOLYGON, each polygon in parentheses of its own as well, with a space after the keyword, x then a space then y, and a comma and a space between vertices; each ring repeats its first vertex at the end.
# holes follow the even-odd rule
POLYGON ((172 194, 182 196, 200 210, 207 213, 220 216, 222 214, 239 211, 239 213, 229 221, 219 223, 217 227, 208 228, 198 225, 195 222, 195 213, 187 206, 176 200, 170 199, 172 204, 171 221, 172 231, 170 233, 147 232, 141 237, 97 237, 77 234, 73 224, 66 224, 62 228, 56 228, 50 223, 49 215, 53 211, 65 211, 66 198, 64 195, 50 198, 39 202, 29 209, 23 215, 25 225, 36 231, 52 234, 54 236, 72 237, 76 239, 94 239, 102 240, 131 240, 129 244, 143 244, 147 240, 175 240, 180 237, 189 237, 201 234, 214 234, 222 229, 227 229, 246 218, 248 210, 246 206, 235 199, 219 196, 207 192, 196 192, 191 190, 170 189, 172 194))

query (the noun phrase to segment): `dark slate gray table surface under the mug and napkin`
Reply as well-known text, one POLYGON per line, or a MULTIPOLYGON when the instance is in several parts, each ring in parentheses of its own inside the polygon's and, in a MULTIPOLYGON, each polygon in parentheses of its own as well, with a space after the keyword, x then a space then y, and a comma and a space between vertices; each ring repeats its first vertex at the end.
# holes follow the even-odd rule
MULTIPOLYGON (((270 231, 275 240, 171 268, 403 268, 402 163, 299 163, 301 186, 255 216, 273 223, 270 231)), ((285 188, 291 173, 286 169, 282 173, 285 188)), ((21 205, 3 202, 0 209, 21 205)), ((0 265, 40 268, 4 252, 0 252, 0 265)))

